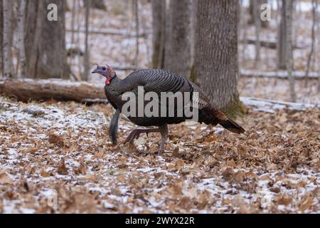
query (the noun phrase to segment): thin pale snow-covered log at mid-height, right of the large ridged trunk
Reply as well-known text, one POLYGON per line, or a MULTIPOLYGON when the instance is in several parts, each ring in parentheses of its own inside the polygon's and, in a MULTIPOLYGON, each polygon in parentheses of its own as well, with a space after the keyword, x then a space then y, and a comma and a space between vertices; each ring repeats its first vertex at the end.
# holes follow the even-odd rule
MULTIPOLYGON (((256 77, 256 78, 281 78, 281 79, 287 79, 288 73, 287 71, 251 71, 246 69, 240 70, 240 76, 245 77, 256 77)), ((306 76, 306 73, 304 71, 293 71, 292 76, 294 76, 295 79, 304 79, 306 76)), ((310 79, 317 79, 319 77, 318 72, 309 72, 308 78, 310 79)))

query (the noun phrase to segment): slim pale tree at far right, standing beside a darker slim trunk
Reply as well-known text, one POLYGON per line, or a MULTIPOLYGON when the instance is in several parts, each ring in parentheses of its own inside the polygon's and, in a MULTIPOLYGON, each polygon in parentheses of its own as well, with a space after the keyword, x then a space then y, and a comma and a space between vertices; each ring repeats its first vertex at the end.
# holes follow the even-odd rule
POLYGON ((290 99, 291 102, 296 102, 296 93, 294 91, 294 77, 292 76, 292 1, 293 0, 286 0, 282 1, 282 7, 285 10, 285 20, 286 20, 286 67, 288 71, 288 79, 289 79, 289 88, 290 88, 290 99))

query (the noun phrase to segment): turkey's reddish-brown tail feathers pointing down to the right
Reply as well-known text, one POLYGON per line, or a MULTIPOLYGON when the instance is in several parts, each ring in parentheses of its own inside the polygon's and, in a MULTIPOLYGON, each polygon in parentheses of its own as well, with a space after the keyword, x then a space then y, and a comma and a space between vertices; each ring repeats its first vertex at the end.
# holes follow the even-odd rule
POLYGON ((231 120, 228 115, 225 115, 225 113, 221 112, 220 110, 216 110, 212 107, 206 107, 204 108, 206 110, 206 113, 210 113, 214 116, 212 124, 216 125, 217 123, 222 125, 223 128, 229 130, 232 133, 241 134, 245 133, 245 129, 243 129, 238 123, 235 123, 235 121, 231 120))

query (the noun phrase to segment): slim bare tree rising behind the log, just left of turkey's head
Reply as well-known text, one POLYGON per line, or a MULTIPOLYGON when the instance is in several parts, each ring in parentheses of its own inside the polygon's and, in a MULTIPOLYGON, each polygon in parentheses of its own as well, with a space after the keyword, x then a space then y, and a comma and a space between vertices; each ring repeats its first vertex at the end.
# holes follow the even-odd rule
POLYGON ((84 58, 84 66, 85 71, 82 73, 81 79, 82 81, 88 80, 88 75, 90 71, 90 50, 89 50, 89 19, 90 19, 90 4, 91 0, 87 0, 87 6, 85 6, 85 58, 84 58))

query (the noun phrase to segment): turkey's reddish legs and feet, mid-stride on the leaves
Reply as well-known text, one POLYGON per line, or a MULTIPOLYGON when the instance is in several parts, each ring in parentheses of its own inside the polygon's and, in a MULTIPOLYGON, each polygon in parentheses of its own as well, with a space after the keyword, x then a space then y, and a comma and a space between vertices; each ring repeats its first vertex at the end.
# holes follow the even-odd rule
POLYGON ((149 128, 149 129, 137 128, 135 130, 132 130, 132 133, 128 135, 126 140, 124 140, 123 144, 127 144, 127 142, 132 144, 134 142, 134 139, 139 138, 140 134, 143 134, 143 133, 146 133, 146 135, 148 135, 148 133, 161 133, 161 142, 160 142, 160 147, 158 152, 158 155, 161 155, 162 152, 164 151, 166 138, 168 138, 168 126, 162 125, 159 128, 149 128))

